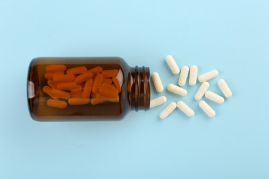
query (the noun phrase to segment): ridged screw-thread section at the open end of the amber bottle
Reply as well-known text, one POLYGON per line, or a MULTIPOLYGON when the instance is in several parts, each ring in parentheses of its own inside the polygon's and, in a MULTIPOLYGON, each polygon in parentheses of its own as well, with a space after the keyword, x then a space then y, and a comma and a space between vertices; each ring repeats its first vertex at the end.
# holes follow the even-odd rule
POLYGON ((135 111, 150 109, 150 68, 135 66, 135 111))

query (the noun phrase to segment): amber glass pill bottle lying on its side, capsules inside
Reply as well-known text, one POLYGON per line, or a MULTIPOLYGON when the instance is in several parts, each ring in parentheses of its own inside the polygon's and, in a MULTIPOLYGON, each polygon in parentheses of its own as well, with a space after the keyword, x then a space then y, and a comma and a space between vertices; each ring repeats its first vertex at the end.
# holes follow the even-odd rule
POLYGON ((150 108, 149 68, 119 57, 39 57, 27 83, 34 120, 120 120, 150 108))

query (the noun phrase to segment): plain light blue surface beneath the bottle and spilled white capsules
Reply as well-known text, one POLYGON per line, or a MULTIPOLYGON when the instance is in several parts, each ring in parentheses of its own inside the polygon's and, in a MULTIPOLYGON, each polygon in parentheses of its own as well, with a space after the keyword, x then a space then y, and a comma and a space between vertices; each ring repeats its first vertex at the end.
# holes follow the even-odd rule
MULTIPOLYGON (((0 1, 0 178, 269 178, 269 1, 0 1), (164 59, 219 70, 233 96, 120 122, 40 123, 26 103, 37 56, 121 56, 176 83, 164 59)), ((210 90, 220 93, 217 79, 210 90)), ((181 97, 167 91, 168 101, 181 97)))

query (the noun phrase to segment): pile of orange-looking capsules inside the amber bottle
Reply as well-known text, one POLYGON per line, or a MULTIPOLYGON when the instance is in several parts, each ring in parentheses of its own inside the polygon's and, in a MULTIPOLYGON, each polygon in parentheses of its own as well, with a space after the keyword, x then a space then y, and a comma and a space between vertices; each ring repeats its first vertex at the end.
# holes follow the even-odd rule
POLYGON ((48 85, 43 87, 43 92, 50 96, 46 104, 63 109, 68 105, 119 103, 118 74, 117 69, 103 70, 100 66, 67 69, 66 65, 48 65, 45 73, 48 85))

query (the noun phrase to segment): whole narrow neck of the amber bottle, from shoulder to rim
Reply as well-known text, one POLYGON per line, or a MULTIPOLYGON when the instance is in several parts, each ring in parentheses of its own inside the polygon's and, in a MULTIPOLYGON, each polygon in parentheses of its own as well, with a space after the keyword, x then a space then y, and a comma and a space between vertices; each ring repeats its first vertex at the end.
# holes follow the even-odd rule
POLYGON ((128 98, 132 110, 150 109, 150 68, 130 67, 128 98))

